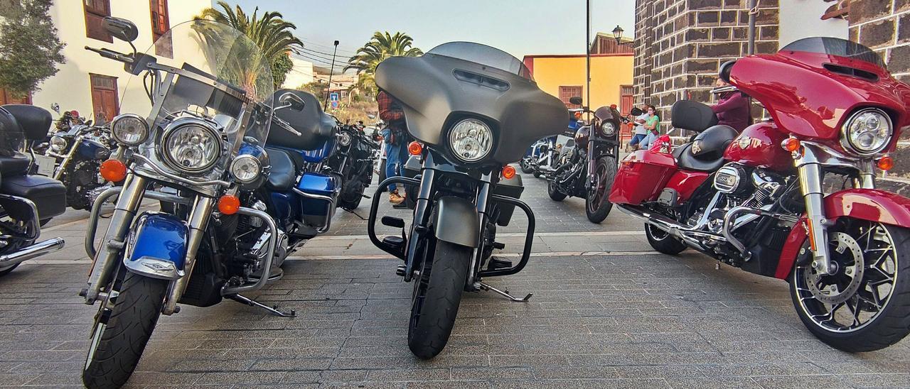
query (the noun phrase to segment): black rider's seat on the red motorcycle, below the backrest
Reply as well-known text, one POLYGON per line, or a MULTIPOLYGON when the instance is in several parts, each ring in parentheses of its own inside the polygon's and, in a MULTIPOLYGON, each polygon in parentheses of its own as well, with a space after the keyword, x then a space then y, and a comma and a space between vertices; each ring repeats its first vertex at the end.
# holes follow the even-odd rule
POLYGON ((725 162, 723 152, 739 133, 729 125, 714 125, 695 136, 692 143, 673 150, 676 165, 684 170, 713 172, 725 162))

